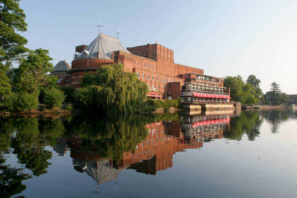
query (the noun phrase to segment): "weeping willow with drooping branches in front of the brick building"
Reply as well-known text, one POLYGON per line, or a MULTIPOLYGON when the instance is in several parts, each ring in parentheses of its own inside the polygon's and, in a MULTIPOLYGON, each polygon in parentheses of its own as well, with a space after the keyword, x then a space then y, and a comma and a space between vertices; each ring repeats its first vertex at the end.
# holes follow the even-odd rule
POLYGON ((147 84, 139 81, 135 73, 125 72, 120 63, 101 66, 96 75, 83 78, 82 84, 77 105, 89 109, 96 106, 105 112, 135 112, 148 94, 147 84))

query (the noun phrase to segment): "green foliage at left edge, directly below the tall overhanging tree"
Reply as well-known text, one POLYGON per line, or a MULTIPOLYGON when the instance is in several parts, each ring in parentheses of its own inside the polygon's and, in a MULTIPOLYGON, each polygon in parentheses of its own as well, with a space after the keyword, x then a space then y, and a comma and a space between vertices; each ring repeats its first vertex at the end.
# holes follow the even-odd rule
POLYGON ((6 76, 8 67, 0 62, 0 101, 3 97, 11 92, 11 84, 9 78, 6 76))

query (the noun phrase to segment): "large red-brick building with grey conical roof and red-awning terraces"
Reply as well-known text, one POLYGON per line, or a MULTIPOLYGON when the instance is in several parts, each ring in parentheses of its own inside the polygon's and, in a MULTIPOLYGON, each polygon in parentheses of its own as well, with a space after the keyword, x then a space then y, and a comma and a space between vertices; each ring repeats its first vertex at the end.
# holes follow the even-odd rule
POLYGON ((204 75, 203 69, 174 63, 174 51, 160 44, 124 48, 118 39, 103 33, 90 43, 75 48, 70 85, 79 88, 85 72, 120 62, 125 71, 136 73, 148 84, 148 97, 181 98, 191 101, 229 101, 230 90, 223 79, 204 75), (200 95, 208 94, 208 95, 200 95))

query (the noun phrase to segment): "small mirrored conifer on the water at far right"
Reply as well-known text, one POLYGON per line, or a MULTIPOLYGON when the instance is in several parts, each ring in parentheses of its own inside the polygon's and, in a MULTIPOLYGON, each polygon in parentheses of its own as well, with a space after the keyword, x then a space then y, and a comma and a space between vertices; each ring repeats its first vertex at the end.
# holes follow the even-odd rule
POLYGON ((281 122, 289 119, 289 109, 269 109, 261 112, 264 119, 271 125, 271 132, 279 132, 281 122))

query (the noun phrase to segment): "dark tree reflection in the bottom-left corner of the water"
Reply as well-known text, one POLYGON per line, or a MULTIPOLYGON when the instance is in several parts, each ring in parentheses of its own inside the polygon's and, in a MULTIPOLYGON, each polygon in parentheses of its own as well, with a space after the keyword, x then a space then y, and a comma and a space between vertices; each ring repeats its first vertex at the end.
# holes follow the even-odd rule
POLYGON ((22 184, 23 180, 32 178, 30 175, 22 173, 22 168, 12 168, 10 165, 3 165, 5 159, 0 156, 0 197, 10 198, 13 195, 21 193, 26 189, 22 184))

